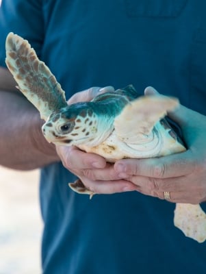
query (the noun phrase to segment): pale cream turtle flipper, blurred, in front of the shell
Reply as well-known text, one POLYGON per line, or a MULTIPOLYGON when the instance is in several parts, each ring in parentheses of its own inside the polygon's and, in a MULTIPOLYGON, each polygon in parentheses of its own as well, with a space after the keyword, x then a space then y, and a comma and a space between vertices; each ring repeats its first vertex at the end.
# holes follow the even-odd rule
POLYGON ((127 144, 140 144, 159 119, 178 105, 177 99, 164 95, 142 96, 131 101, 114 120, 118 138, 127 144))

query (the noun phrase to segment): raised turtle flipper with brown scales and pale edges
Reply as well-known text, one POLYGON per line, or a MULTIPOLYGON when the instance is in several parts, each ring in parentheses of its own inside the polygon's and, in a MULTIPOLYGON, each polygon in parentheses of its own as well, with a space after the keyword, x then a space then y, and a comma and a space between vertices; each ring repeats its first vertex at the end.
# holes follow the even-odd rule
POLYGON ((67 105, 64 90, 49 68, 40 61, 29 42, 8 34, 5 63, 18 84, 18 89, 38 109, 42 119, 67 105))

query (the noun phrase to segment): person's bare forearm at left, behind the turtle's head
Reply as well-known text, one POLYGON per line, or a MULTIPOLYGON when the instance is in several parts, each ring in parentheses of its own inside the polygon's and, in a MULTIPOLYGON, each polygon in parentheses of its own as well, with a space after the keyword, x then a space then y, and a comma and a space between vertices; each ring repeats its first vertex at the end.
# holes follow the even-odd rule
POLYGON ((16 92, 0 92, 0 164, 36 169, 59 161, 55 146, 42 135, 38 111, 16 92))

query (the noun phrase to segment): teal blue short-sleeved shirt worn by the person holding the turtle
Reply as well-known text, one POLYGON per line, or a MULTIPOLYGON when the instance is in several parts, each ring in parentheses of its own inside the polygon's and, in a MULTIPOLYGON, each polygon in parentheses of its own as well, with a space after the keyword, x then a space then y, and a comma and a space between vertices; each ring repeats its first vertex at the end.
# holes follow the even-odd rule
MULTIPOLYGON (((146 86, 206 114, 204 1, 3 0, 5 37, 29 40, 69 98, 91 86, 146 86)), ((206 243, 175 228, 174 203, 127 192, 90 201, 60 163, 41 172, 45 274, 204 273, 206 243)), ((203 209, 206 211, 205 203, 203 209)))

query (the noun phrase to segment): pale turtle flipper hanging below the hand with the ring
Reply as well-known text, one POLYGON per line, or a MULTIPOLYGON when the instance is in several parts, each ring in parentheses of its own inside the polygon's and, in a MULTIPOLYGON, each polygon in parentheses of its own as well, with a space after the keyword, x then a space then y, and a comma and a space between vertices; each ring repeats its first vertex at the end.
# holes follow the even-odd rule
POLYGON ((174 223, 185 236, 197 242, 206 240, 206 214, 200 205, 177 203, 174 223))

